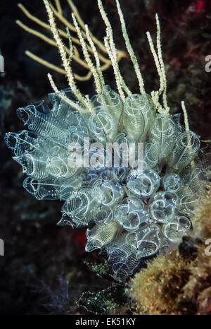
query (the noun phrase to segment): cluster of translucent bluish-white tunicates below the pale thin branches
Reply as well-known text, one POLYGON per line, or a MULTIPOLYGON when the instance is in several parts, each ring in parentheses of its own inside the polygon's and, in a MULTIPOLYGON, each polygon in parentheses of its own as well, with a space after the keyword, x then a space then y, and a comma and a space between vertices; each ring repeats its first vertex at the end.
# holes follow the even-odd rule
MULTIPOLYGON (((63 95, 77 102, 70 89, 63 95)), ((55 93, 49 99, 52 109, 44 102, 19 108, 29 130, 5 136, 27 174, 23 186, 38 200, 63 201, 58 225, 87 227, 86 251, 104 249, 115 275, 132 275, 191 229, 207 179, 196 160, 199 137, 181 126, 179 114, 156 114, 149 95, 122 102, 106 85, 91 99, 90 114, 55 93), (135 143, 144 143, 141 171, 125 165, 135 143)))

